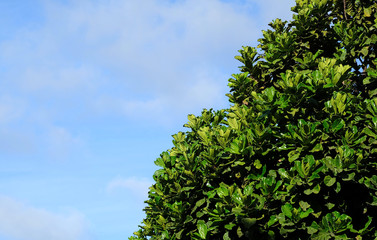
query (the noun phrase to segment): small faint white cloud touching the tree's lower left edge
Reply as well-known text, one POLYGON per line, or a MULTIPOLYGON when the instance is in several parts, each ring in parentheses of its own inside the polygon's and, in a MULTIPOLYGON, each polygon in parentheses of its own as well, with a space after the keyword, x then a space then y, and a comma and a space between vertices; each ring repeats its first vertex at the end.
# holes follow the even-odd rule
POLYGON ((111 180, 107 185, 108 192, 114 192, 120 189, 126 189, 131 191, 132 194, 141 198, 147 199, 149 187, 152 186, 153 182, 146 178, 121 178, 117 177, 111 180))

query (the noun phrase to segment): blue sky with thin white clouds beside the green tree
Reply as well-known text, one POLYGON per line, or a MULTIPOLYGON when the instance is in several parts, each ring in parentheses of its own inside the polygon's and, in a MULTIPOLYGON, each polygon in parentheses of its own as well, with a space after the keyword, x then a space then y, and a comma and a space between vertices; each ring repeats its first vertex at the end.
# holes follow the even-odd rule
POLYGON ((0 0, 0 240, 125 240, 188 114, 294 0, 0 0))

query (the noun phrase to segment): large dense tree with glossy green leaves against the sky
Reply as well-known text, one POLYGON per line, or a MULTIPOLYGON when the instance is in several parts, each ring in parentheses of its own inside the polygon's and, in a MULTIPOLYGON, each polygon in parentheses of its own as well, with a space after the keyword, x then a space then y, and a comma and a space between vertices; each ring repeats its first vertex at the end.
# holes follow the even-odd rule
POLYGON ((155 161, 130 239, 377 239, 377 1, 292 11, 155 161))

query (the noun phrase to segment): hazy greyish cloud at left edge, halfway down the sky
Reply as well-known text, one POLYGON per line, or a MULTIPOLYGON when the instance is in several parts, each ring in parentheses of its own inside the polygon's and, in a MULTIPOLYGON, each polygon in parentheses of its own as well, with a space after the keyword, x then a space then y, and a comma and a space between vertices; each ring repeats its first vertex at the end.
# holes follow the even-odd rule
POLYGON ((69 128, 53 125, 54 114, 38 109, 30 113, 1 100, 0 153, 30 157, 39 152, 54 160, 66 160, 77 150, 82 152, 84 140, 69 128))

